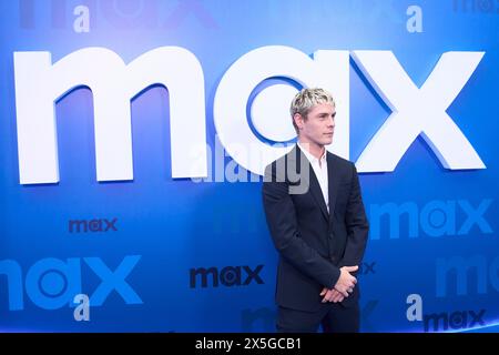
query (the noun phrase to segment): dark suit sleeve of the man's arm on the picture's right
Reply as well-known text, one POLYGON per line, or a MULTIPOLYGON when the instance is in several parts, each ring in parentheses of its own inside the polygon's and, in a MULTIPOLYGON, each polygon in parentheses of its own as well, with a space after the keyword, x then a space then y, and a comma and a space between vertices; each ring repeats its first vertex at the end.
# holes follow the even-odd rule
POLYGON ((364 210, 357 169, 355 165, 353 165, 353 169, 350 194, 345 214, 347 242, 345 254, 339 265, 358 265, 360 267, 360 262, 363 261, 364 252, 366 250, 369 224, 364 210))

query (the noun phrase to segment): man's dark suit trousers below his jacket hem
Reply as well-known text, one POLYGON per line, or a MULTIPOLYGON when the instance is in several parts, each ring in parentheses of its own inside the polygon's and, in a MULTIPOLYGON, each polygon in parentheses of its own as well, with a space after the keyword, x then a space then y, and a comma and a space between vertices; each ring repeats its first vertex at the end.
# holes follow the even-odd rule
POLYGON ((358 302, 349 307, 328 302, 320 304, 317 312, 278 307, 279 333, 317 333, 319 326, 324 333, 358 333, 360 326, 358 302))

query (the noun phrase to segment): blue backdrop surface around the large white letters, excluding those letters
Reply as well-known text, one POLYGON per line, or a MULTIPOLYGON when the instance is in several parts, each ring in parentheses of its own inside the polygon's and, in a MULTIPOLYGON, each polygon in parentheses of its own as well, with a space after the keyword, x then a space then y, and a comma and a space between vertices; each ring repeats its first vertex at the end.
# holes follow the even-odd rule
MULTIPOLYGON (((418 138, 394 172, 360 174, 371 226, 361 327, 451 332, 499 322, 496 1, 18 0, 1 1, 0 16, 0 331, 274 331, 277 254, 262 183, 172 179, 164 88, 132 100, 133 181, 96 181, 92 92, 79 88, 55 105, 60 182, 20 184, 13 52, 49 51, 55 62, 86 47, 125 63, 164 45, 194 53, 212 150, 218 82, 254 49, 389 50, 417 87, 444 52, 485 52, 447 113, 486 169, 445 169, 418 138), (83 32, 78 6, 90 13, 83 32), (69 305, 79 293, 93 297, 89 321, 69 305)), ((355 162, 390 109, 353 60, 349 78, 355 162)))

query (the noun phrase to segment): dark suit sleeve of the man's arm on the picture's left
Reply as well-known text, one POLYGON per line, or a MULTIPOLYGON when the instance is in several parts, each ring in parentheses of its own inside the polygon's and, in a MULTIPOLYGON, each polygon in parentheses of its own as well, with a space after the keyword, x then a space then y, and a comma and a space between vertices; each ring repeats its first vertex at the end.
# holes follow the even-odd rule
POLYGON ((268 165, 263 184, 263 204, 274 245, 289 264, 320 285, 333 288, 339 278, 339 268, 301 237, 288 189, 289 184, 278 182, 275 169, 268 165))

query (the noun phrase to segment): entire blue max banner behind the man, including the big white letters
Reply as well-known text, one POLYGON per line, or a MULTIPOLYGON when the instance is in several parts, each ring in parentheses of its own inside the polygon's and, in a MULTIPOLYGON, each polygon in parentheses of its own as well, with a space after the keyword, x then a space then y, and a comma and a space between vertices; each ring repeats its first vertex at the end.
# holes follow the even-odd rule
POLYGON ((499 3, 0 2, 0 332, 274 332, 263 169, 336 99, 363 332, 499 322, 499 3))

